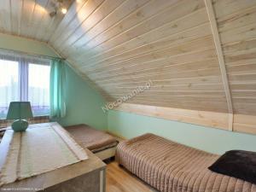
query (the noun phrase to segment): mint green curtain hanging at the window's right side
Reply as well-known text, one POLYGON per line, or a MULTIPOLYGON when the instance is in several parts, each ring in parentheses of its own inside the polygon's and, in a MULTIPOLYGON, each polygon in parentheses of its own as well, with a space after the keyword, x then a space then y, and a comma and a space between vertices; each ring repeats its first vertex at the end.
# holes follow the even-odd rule
POLYGON ((52 118, 62 118, 66 115, 65 81, 65 62, 57 59, 52 60, 49 81, 49 116, 52 118))

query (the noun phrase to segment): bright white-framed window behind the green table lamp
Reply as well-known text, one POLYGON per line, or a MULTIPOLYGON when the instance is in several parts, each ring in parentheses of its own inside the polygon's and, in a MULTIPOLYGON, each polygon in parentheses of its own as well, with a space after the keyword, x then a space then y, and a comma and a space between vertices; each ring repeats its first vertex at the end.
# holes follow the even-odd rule
POLYGON ((31 102, 34 116, 49 115, 49 68, 49 61, 0 59, 0 119, 15 101, 31 102))

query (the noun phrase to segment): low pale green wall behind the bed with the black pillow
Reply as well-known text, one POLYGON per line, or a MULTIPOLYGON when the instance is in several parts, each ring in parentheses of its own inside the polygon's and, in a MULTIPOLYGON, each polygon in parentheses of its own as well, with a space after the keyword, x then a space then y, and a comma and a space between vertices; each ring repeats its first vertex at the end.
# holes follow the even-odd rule
POLYGON ((127 138, 151 132, 213 154, 223 154, 230 149, 256 151, 255 135, 223 131, 115 110, 108 111, 108 131, 127 138))

